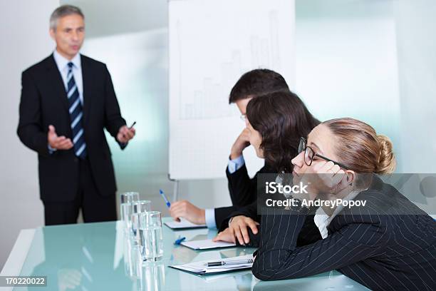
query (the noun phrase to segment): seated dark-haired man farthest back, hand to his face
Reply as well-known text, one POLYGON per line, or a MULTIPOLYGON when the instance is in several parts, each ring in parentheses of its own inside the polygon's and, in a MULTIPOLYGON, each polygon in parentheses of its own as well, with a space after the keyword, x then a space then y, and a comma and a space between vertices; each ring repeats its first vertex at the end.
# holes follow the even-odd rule
MULTIPOLYGON (((236 103, 242 117, 245 118, 246 104, 256 97, 275 91, 289 91, 289 86, 283 76, 268 69, 255 69, 244 73, 233 86, 229 96, 229 103, 236 103)), ((188 202, 180 200, 172 203, 170 214, 175 220, 185 218, 192 223, 206 223, 208 228, 227 228, 229 216, 239 208, 256 203, 256 176, 268 173, 266 165, 259 170, 254 178, 250 178, 246 170, 242 151, 249 146, 249 130, 244 128, 234 141, 230 150, 229 164, 226 169, 229 182, 229 193, 232 206, 202 209, 188 202)), ((257 231, 254 221, 250 221, 252 230, 257 231)))

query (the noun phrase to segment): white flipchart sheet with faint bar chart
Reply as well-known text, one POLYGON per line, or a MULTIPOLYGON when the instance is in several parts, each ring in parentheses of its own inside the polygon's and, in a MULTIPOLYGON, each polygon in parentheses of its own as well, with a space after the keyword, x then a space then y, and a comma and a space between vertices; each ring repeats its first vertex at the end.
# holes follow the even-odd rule
MULTIPOLYGON (((255 68, 294 82, 294 1, 170 1, 169 19, 170 176, 222 178, 245 126, 234 83, 255 68)), ((244 158, 249 173, 263 165, 252 148, 244 158)))

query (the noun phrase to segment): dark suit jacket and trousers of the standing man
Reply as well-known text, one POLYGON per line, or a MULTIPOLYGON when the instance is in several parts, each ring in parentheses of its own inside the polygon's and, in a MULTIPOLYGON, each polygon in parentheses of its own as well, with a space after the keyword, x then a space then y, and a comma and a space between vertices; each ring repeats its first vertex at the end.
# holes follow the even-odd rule
MULTIPOLYGON (((84 215, 85 221, 114 220, 115 174, 108 142, 103 128, 111 136, 125 125, 113 89, 113 83, 104 63, 81 56, 83 76, 83 118, 87 157, 76 157, 70 150, 48 151, 48 126, 56 128, 58 136, 72 137, 68 99, 61 73, 53 55, 26 69, 22 74, 20 119, 17 133, 28 148, 38 153, 39 187, 41 200, 47 208, 46 220, 66 215, 58 209, 84 201, 92 205, 84 215), (85 173, 86 172, 86 173, 85 173), (86 194, 86 195, 85 195, 86 194), (98 199, 100 203, 98 203, 98 199), (63 205, 61 207, 61 205, 63 205), (100 207, 99 207, 100 206, 100 207), (86 217, 85 217, 86 216, 86 217)), ((68 220, 76 210, 68 210, 68 220)), ((73 223, 67 221, 66 223, 73 223)), ((46 221, 46 224, 51 224, 46 221)))

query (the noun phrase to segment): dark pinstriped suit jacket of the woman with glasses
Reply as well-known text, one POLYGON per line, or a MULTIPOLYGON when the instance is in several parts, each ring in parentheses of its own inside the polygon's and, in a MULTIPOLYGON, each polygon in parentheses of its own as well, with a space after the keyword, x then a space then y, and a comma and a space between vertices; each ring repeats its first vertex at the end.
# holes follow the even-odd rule
POLYGON ((265 209, 252 272, 261 280, 282 280, 338 270, 372 290, 436 290, 436 223, 391 185, 374 177, 344 208, 328 237, 299 247, 302 210, 265 209))

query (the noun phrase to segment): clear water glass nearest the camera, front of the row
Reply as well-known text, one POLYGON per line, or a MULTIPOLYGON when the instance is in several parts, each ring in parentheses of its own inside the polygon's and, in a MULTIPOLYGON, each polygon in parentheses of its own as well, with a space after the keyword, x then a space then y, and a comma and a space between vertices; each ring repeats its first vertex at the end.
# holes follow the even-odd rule
POLYGON ((163 255, 162 218, 159 211, 139 214, 139 243, 143 260, 157 261, 163 255))

